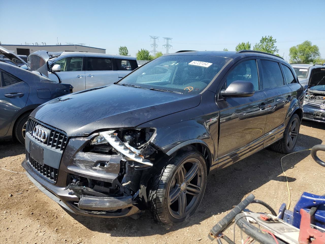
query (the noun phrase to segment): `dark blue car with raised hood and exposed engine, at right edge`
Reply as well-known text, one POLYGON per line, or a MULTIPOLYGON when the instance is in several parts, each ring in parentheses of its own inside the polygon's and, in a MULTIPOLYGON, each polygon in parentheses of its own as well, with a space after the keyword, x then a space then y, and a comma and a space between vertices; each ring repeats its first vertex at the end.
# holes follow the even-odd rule
POLYGON ((325 66, 310 67, 303 119, 325 123, 325 66))

